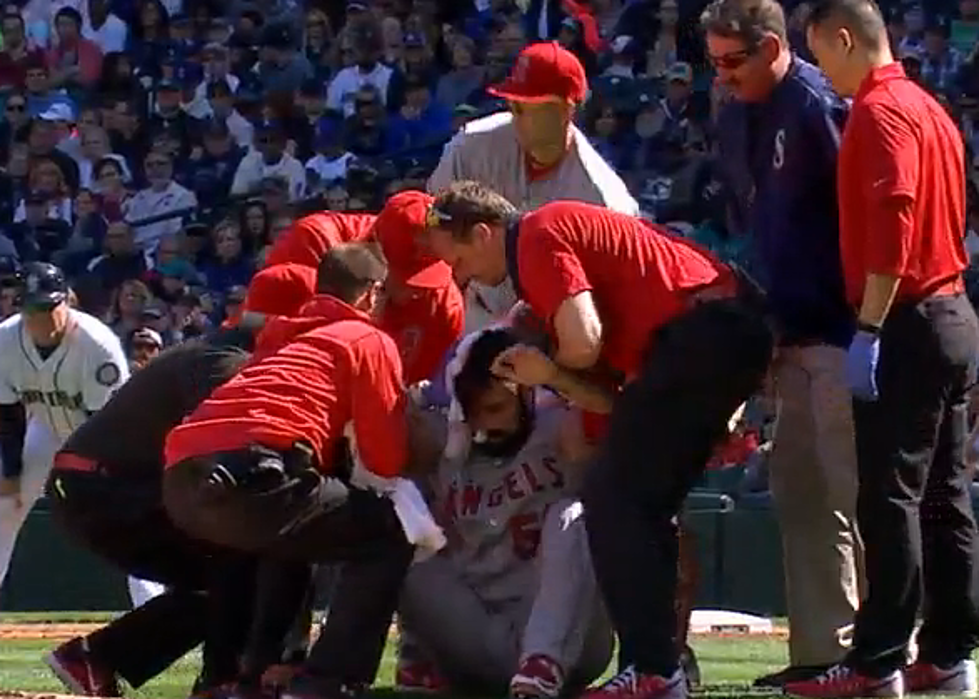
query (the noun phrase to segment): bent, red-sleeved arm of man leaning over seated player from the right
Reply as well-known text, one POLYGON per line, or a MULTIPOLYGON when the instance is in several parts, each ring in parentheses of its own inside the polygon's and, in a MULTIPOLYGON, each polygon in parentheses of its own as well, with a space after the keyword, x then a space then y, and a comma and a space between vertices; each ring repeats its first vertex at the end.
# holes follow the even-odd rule
POLYGON ((610 412, 609 388, 580 375, 596 365, 602 351, 602 323, 580 260, 566 241, 542 229, 521 234, 519 256, 525 300, 548 319, 557 339, 547 385, 584 410, 610 412))

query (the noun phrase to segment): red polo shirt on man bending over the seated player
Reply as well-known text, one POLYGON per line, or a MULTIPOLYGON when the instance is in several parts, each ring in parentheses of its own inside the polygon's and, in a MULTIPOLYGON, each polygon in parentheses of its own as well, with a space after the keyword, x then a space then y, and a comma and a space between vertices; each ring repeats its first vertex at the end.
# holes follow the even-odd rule
POLYGON ((653 331, 686 310, 688 295, 730 273, 659 226, 574 201, 521 219, 516 262, 521 297, 548 325, 565 299, 591 291, 602 322, 600 359, 626 378, 638 372, 653 331))

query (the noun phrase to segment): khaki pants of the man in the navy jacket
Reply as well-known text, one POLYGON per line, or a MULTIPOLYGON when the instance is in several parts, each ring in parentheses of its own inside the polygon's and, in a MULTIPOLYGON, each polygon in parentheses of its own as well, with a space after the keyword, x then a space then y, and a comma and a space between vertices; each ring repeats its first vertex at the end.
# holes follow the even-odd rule
POLYGON ((792 665, 840 660, 861 597, 845 360, 838 347, 785 348, 773 369, 779 410, 769 479, 782 532, 792 665))

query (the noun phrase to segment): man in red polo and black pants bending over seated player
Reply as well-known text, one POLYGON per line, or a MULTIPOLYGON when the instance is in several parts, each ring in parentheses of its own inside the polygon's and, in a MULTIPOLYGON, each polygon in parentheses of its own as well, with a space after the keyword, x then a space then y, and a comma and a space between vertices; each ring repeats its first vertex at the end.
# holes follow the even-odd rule
POLYGON ((553 357, 517 345, 494 371, 610 413, 583 495, 620 673, 586 696, 686 696, 675 517, 767 371, 772 334, 759 300, 710 254, 645 221, 572 201, 520 217, 475 182, 436 198, 426 242, 459 280, 509 274, 556 340, 553 357))

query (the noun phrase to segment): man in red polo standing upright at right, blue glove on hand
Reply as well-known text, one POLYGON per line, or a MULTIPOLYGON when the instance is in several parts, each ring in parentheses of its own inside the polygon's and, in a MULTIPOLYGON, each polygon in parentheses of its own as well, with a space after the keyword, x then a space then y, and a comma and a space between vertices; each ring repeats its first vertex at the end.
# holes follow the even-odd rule
POLYGON ((836 90, 853 97, 838 163, 840 252, 858 313, 847 377, 869 594, 847 658, 786 690, 975 696, 976 525, 963 454, 979 329, 961 276, 962 140, 894 60, 871 0, 818 3, 807 38, 836 90), (918 659, 905 670, 919 611, 918 659))

